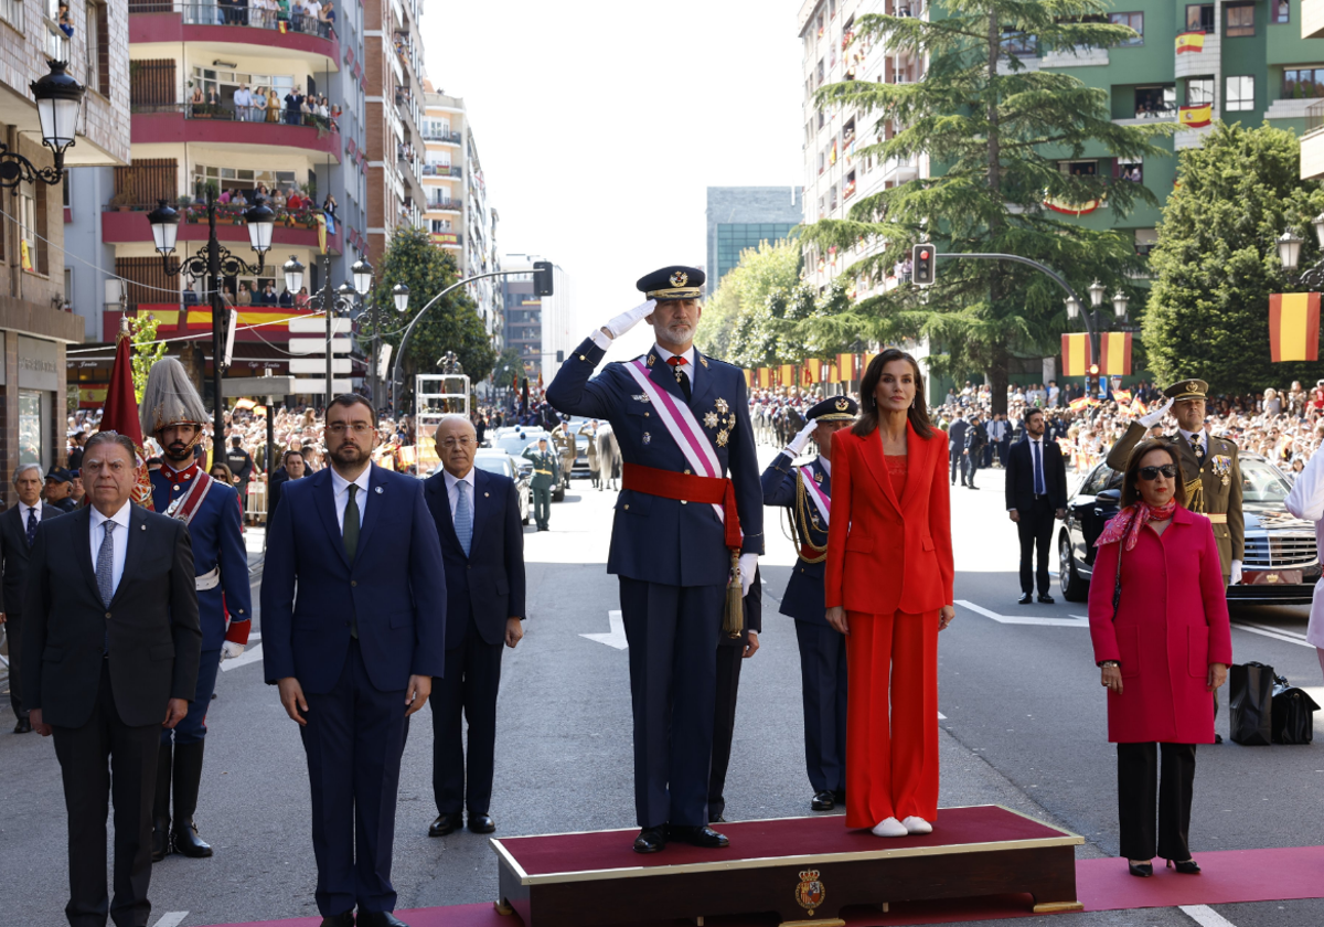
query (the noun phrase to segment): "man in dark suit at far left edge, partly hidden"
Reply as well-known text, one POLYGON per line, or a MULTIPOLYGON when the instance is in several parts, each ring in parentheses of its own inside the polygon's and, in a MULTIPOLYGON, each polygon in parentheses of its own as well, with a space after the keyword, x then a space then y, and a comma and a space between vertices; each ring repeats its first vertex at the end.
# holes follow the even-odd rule
POLYGON ((0 515, 0 625, 9 637, 9 705, 19 723, 15 734, 32 730, 28 707, 23 703, 23 591, 26 585, 28 558, 32 544, 37 540, 37 526, 42 515, 54 518, 58 509, 50 509, 41 502, 41 466, 20 464, 13 471, 13 486, 19 491, 19 502, 4 515, 0 515))

